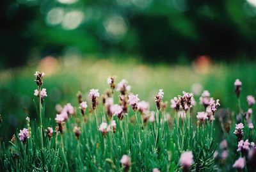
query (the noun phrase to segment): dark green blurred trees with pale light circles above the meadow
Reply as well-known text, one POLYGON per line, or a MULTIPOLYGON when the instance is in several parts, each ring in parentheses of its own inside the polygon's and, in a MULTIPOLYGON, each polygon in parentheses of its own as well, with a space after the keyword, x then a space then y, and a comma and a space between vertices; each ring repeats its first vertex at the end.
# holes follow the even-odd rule
POLYGON ((255 59, 255 0, 2 0, 0 68, 45 56, 255 59))

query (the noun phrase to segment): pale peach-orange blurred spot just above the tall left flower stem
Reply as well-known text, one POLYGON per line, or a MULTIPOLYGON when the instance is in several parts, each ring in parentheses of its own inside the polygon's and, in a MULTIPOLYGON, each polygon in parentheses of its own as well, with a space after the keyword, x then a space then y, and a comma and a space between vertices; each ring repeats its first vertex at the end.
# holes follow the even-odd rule
POLYGON ((43 71, 47 75, 52 75, 56 71, 58 71, 59 67, 60 67, 60 61, 58 61, 58 59, 52 56, 46 56, 40 61, 38 65, 38 70, 43 71))

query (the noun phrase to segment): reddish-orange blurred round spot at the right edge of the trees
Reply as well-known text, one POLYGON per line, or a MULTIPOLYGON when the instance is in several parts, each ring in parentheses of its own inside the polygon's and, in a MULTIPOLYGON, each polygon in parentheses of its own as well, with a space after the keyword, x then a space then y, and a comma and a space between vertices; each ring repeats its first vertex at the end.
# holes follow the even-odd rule
POLYGON ((193 68, 195 72, 200 74, 207 74, 211 68, 211 58, 209 56, 198 56, 193 61, 193 68))

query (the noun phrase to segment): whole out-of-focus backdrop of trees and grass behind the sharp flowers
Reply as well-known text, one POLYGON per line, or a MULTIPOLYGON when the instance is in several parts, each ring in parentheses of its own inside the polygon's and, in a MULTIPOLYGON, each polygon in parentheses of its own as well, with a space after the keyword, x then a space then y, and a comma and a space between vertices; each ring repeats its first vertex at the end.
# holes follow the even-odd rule
POLYGON ((209 90, 237 111, 239 78, 244 111, 255 96, 256 0, 1 0, 0 9, 0 141, 37 118, 36 70, 46 74, 47 118, 56 104, 78 108, 79 90, 87 101, 91 88, 102 95, 111 75, 152 110, 163 88, 172 116, 182 91, 198 102, 209 90))

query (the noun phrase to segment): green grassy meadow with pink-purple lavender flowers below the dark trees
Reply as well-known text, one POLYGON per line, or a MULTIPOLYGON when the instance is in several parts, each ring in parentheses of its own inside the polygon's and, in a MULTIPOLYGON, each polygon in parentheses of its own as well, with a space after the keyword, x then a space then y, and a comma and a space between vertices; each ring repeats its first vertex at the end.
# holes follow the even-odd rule
POLYGON ((255 102, 248 105, 246 97, 255 96, 255 74, 255 63, 169 66, 51 57, 3 70, 1 171, 253 171, 255 102), (36 79, 42 86, 35 71, 45 73, 36 79), (122 79, 131 90, 120 90, 122 79), (239 96, 236 79, 243 83, 236 85, 239 96), (41 97, 42 88, 47 96, 41 97), (174 97, 178 105, 170 107, 174 97), (202 103, 210 97, 214 101, 202 103), (145 111, 142 100, 150 106, 145 111))

